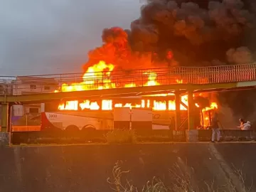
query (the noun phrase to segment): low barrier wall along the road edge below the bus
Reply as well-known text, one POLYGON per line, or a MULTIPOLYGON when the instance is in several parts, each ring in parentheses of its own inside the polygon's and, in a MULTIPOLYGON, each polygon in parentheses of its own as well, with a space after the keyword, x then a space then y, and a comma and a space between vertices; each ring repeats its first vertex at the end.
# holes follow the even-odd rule
MULTIPOLYGON (((79 132, 64 132, 61 130, 41 132, 12 132, 12 144, 85 144, 106 143, 107 132, 112 130, 86 130, 79 132)), ((220 130, 221 140, 228 141, 254 141, 255 131, 220 130)), ((198 130, 198 142, 210 142, 211 130, 198 130)), ((137 129, 135 131, 137 142, 186 142, 185 131, 137 129)))

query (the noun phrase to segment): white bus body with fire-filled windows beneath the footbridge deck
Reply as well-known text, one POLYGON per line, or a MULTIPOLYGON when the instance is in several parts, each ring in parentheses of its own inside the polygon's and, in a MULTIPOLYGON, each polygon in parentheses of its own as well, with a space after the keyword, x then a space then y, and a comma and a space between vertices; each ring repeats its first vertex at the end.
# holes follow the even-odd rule
MULTIPOLYGON (((181 97, 187 105, 187 95, 181 97)), ((214 107, 214 106, 212 106, 214 107)), ((196 108, 194 127, 208 114, 196 108)), ((208 107, 210 109, 210 107, 208 107)), ((187 109, 181 104, 181 127, 187 129, 187 109)), ((207 117, 206 117, 207 116, 207 117)), ((114 100, 75 100, 57 105, 46 104, 41 114, 42 129, 169 129, 175 117, 174 95, 121 97, 114 100), (58 110, 56 110, 58 108, 58 110)))

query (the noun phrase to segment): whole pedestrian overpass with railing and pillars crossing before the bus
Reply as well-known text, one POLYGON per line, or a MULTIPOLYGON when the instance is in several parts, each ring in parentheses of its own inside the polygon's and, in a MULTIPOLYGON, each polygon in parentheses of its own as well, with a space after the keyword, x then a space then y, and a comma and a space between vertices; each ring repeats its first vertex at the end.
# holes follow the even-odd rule
MULTIPOLYGON (((9 111, 14 104, 31 104, 61 100, 111 99, 137 95, 173 92, 176 95, 176 119, 179 117, 180 95, 188 94, 188 127, 193 126, 193 93, 254 89, 256 63, 210 67, 151 68, 73 74, 1 77, 1 83, 13 87, 14 95, 0 96, 2 131, 9 122, 9 111), (25 79, 25 80, 24 80, 25 79), (58 92, 41 88, 35 94, 26 92, 31 84, 56 85, 58 92), (72 85, 72 86, 70 86, 72 85)), ((176 121, 176 123, 179 123, 176 121)))

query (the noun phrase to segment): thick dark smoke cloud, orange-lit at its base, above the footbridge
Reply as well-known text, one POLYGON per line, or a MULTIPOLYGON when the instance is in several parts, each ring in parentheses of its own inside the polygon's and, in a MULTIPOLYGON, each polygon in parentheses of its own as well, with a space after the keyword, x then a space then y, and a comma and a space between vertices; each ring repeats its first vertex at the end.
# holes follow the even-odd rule
POLYGON ((84 69, 100 60, 113 63, 115 70, 250 63, 255 5, 241 0, 148 0, 129 29, 103 30, 102 46, 90 51, 84 69))

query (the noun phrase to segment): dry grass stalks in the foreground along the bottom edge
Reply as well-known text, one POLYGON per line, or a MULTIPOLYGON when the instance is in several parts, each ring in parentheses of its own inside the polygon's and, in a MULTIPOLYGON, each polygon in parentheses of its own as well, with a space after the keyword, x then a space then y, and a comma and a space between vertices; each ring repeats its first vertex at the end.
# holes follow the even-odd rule
MULTIPOLYGON (((110 187, 113 191, 117 192, 139 192, 138 188, 132 184, 132 181, 124 179, 124 174, 128 174, 129 171, 122 171, 122 161, 117 161, 112 169, 112 177, 107 178, 107 182, 110 184, 110 187)), ((193 169, 191 169, 193 170, 193 169)), ((147 181, 143 186, 142 192, 200 192, 195 183, 193 183, 192 174, 190 171, 185 171, 178 165, 174 164, 173 168, 169 170, 171 174, 171 181, 169 181, 170 186, 166 186, 163 181, 159 178, 152 178, 151 181, 147 181)), ((249 192, 252 189, 245 187, 245 176, 242 174, 242 171, 235 169, 235 174, 239 176, 240 183, 242 183, 241 188, 235 188, 233 183, 227 183, 229 187, 228 190, 221 190, 224 192, 249 192)), ((207 190, 206 192, 218 192, 219 188, 214 187, 214 181, 212 183, 205 183, 207 190)))

